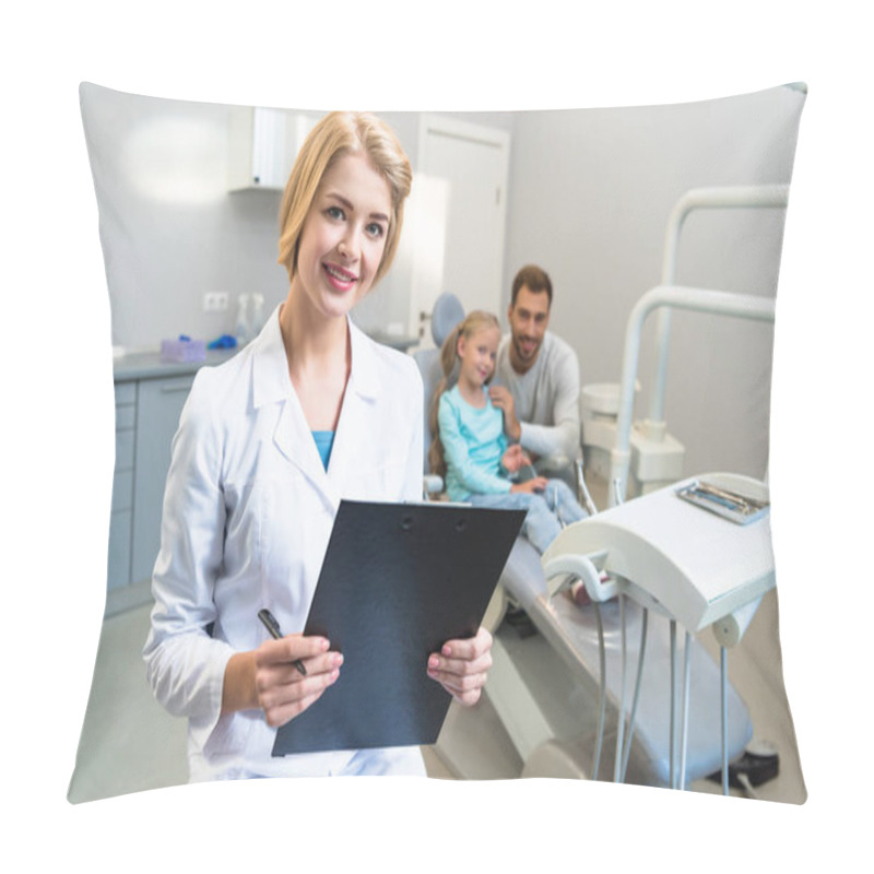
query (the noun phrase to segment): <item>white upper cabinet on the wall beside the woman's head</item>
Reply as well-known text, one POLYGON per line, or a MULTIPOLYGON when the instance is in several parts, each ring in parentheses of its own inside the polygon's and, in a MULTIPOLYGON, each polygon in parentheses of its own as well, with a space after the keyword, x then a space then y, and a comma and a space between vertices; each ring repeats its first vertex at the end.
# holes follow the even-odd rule
POLYGON ((282 191, 316 118, 287 109, 239 106, 228 123, 228 189, 282 191))

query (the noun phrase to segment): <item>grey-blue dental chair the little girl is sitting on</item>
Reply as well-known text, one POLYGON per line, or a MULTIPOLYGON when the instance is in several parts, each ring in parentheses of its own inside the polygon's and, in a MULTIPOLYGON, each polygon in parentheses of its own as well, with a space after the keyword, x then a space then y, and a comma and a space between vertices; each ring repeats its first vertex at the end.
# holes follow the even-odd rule
MULTIPOLYGON (((442 376, 440 347, 463 316, 458 298, 441 295, 432 316, 436 349, 413 353, 425 389, 426 497, 441 488, 439 477, 427 475, 428 411, 442 376)), ((685 682, 677 682, 675 623, 658 605, 610 588, 603 569, 586 581, 594 595, 591 605, 577 606, 567 597, 569 580, 584 571, 579 562, 563 570, 560 555, 583 550, 588 560, 591 548, 575 543, 572 530, 589 521, 559 534, 554 544, 559 548, 547 553, 554 559, 548 578, 524 538, 513 545, 484 619, 494 637, 485 695, 519 754, 522 777, 683 789, 743 753, 753 733, 749 713, 728 684, 724 665, 720 671, 689 635, 683 647, 685 682), (503 621, 510 603, 528 614, 539 634, 522 639, 508 629, 503 621)), ((463 756, 454 753, 463 739, 453 733, 463 732, 448 719, 438 753, 458 776, 475 776, 464 772, 463 756)))

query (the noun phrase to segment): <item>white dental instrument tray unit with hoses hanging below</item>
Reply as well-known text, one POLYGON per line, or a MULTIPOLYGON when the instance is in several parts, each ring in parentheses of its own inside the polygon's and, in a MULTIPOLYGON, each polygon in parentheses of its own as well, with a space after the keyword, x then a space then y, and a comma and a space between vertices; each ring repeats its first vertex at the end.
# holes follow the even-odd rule
MULTIPOLYGON (((723 499, 724 500, 724 499, 723 499)), ((732 499, 730 499, 732 500, 732 499)), ((708 474, 626 504, 615 506, 582 522, 564 529, 543 556, 544 576, 553 580, 576 577, 582 580, 592 602, 603 604, 625 599, 641 607, 641 643, 635 689, 639 700, 647 621, 650 612, 665 617, 670 628, 671 692, 670 784, 684 788, 688 741, 692 633, 708 626, 720 646, 720 737, 722 745, 723 791, 728 791, 728 671, 727 650, 746 630, 761 597, 775 584, 770 529, 767 517, 767 489, 755 480, 732 474, 708 474), (751 521, 737 522, 723 512, 702 508, 684 498, 684 492, 706 483, 709 489, 736 495, 736 506, 755 506, 751 521), (676 626, 683 625, 685 664, 677 682, 676 626), (682 705, 677 705, 677 696, 682 705), (682 716, 677 716, 680 708, 682 716)), ((621 707, 625 712, 626 652, 623 629, 621 665, 621 707)), ((628 732, 634 730, 633 707, 628 732)), ((619 720, 614 778, 622 779, 627 751, 623 745, 625 724, 619 720)), ((601 733, 603 729, 601 730, 601 733)))

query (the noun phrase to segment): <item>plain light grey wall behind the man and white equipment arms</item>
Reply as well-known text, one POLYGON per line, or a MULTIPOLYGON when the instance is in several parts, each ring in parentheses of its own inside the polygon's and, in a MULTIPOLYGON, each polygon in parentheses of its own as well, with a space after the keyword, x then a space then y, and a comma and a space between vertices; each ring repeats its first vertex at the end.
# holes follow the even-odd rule
MULTIPOLYGON (((583 385, 619 381, 626 321, 659 284, 675 201, 701 186, 788 182, 803 103, 802 92, 777 87, 678 106, 517 114, 505 284, 527 262, 550 272, 552 327, 576 347, 583 385)), ((694 213, 677 282, 772 296, 783 218, 782 210, 694 213)), ((645 327, 640 413, 656 321, 645 327)), ((770 326, 673 315, 665 420, 686 446, 687 473, 765 473, 772 341, 770 326)))

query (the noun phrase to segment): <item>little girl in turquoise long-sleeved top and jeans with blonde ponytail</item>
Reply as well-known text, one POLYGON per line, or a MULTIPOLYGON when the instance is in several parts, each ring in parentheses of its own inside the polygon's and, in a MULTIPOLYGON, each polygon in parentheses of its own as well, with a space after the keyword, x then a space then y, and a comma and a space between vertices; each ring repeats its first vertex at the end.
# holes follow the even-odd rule
POLYGON ((428 462, 444 476, 450 500, 528 510, 522 533, 543 553, 562 523, 587 513, 562 480, 510 480, 531 461, 521 446, 508 446, 503 413, 486 390, 499 341, 497 319, 481 310, 471 312, 446 339, 440 353, 444 379, 430 411, 435 436, 428 462))

